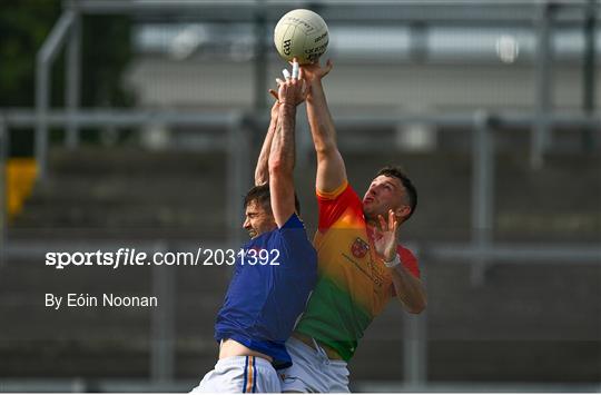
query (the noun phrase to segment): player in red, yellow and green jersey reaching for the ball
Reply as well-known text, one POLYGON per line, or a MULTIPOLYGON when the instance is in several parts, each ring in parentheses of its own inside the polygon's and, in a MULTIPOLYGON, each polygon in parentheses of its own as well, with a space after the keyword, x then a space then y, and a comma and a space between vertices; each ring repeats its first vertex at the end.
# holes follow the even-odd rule
POLYGON ((347 362, 373 318, 396 297, 405 310, 426 306, 414 255, 398 245, 398 228, 414 213, 417 192, 398 168, 382 169, 359 198, 348 185, 324 78, 332 62, 302 66, 309 93, 307 116, 317 152, 318 280, 286 343, 293 366, 284 392, 348 392, 347 362))

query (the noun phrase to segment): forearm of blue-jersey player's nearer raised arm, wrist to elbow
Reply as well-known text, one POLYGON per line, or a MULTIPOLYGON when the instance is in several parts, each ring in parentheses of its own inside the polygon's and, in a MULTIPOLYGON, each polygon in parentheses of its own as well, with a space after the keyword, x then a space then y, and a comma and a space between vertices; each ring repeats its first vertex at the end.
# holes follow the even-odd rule
POLYGON ((278 121, 269 152, 269 174, 284 171, 292 177, 295 162, 295 122, 296 107, 292 105, 280 105, 278 121))

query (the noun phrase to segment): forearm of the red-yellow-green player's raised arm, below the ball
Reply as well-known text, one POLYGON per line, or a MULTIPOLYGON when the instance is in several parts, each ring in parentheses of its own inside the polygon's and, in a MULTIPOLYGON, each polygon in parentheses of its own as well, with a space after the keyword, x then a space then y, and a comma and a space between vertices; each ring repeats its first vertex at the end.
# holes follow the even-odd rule
POLYGON ((317 154, 336 149, 336 129, 319 80, 312 82, 307 97, 307 117, 317 154))

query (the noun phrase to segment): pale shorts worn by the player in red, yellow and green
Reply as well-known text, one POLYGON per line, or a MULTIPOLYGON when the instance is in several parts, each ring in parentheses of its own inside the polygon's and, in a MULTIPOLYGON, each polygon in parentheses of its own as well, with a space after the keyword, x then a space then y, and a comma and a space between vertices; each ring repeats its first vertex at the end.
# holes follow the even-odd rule
POLYGON ((346 362, 329 359, 317 343, 315 347, 312 348, 294 337, 286 342, 293 366, 278 371, 282 392, 348 393, 346 362))

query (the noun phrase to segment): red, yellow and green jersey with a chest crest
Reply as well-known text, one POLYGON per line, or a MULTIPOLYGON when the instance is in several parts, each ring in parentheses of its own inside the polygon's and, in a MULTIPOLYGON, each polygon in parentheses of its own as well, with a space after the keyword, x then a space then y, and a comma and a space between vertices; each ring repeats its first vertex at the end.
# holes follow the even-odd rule
MULTIPOLYGON (((318 279, 296 330, 334 348, 345 361, 394 295, 392 275, 377 257, 363 204, 348 182, 317 191, 319 225, 314 246, 318 279)), ((420 277, 415 256, 397 246, 403 266, 420 277)))

